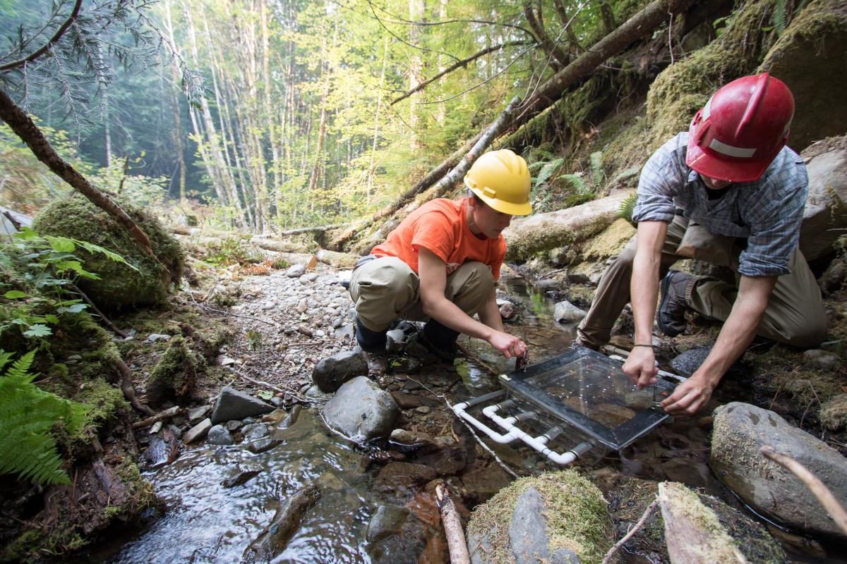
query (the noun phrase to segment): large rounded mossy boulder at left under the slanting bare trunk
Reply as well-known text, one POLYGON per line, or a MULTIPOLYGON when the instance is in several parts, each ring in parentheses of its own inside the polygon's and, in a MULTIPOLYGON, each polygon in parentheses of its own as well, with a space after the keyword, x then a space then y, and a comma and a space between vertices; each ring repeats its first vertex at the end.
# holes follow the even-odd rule
POLYGON ((185 255, 180 244, 146 212, 115 194, 109 194, 109 197, 147 233, 156 259, 145 255, 125 227, 81 194, 72 194, 69 198, 48 205, 36 216, 32 228, 46 235, 77 238, 98 244, 118 253, 138 268, 138 271, 134 271, 103 255, 78 251, 86 270, 101 277, 100 280, 80 279, 79 286, 103 309, 163 304, 171 285, 182 276, 185 255))

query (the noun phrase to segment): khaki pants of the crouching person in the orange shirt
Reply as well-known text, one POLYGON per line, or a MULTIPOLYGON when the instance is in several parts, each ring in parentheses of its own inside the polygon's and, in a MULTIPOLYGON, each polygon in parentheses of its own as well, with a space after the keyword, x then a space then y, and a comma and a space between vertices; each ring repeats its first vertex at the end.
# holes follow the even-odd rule
MULTIPOLYGON (((473 316, 491 298, 494 287, 490 266, 466 262, 447 277, 444 295, 473 316)), ((420 301, 420 278, 393 256, 368 260, 353 271, 350 295, 356 315, 371 331, 384 331, 398 318, 429 320, 420 301)))

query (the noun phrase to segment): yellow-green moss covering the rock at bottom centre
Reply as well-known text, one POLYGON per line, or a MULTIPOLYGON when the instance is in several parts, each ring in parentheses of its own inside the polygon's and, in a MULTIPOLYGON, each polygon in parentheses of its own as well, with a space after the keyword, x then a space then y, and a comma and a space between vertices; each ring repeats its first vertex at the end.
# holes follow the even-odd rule
POLYGON ((567 547, 584 564, 602 561, 614 539, 612 520, 601 491, 575 470, 518 479, 473 510, 468 534, 490 534, 494 553, 488 555, 489 561, 514 561, 509 523, 518 497, 529 487, 545 501, 550 550, 567 547))

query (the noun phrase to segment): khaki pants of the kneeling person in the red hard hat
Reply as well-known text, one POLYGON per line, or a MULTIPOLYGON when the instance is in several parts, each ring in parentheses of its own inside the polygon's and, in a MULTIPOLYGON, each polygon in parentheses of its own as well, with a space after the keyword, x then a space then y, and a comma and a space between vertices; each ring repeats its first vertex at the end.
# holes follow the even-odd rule
MULTIPOLYGON (((741 250, 738 239, 712 235, 700 226, 689 227, 683 216, 675 216, 667 225, 659 277, 664 277, 671 265, 682 259, 695 258, 729 266, 735 272, 735 284, 702 277, 688 299, 689 308, 698 314, 725 321, 738 295, 741 250)), ((579 340, 584 344, 599 348, 609 342, 612 326, 629 301, 634 256, 635 238, 632 238, 603 272, 591 309, 577 328, 579 340)), ((800 249, 794 250, 788 266, 791 273, 777 278, 756 333, 794 347, 816 347, 826 337, 827 330, 821 290, 800 249)))

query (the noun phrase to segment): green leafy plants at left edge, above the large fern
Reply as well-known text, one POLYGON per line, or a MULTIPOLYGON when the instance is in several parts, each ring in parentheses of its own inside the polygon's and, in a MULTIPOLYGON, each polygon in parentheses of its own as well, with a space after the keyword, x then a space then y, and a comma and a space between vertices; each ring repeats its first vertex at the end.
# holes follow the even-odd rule
POLYGON ((44 338, 53 334, 65 314, 88 307, 71 286, 80 278, 99 280, 87 271, 75 253, 99 254, 137 270, 123 257, 97 244, 69 237, 41 235, 28 227, 14 234, 12 244, 0 246, 0 291, 9 300, 0 311, 0 334, 19 327, 24 337, 44 338))

